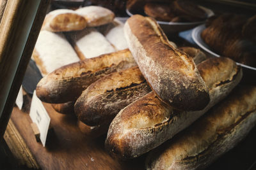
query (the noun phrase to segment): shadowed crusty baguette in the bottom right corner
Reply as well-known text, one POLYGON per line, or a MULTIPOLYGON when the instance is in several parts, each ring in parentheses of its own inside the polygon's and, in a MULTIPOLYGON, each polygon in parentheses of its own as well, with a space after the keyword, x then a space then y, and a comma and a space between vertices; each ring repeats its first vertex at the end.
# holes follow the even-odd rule
POLYGON ((239 86, 195 124, 151 152, 146 167, 204 169, 239 143, 255 125, 256 87, 239 86))

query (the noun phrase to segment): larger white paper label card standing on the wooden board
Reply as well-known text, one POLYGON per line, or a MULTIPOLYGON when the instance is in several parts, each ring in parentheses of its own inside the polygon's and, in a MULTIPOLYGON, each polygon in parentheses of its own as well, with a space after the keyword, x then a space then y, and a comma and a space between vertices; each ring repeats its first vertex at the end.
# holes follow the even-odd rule
POLYGON ((40 101, 40 99, 38 99, 38 97, 36 96, 35 91, 33 93, 31 101, 29 116, 31 117, 32 122, 34 122, 37 125, 40 132, 40 140, 43 146, 45 146, 51 118, 45 110, 42 101, 40 101))

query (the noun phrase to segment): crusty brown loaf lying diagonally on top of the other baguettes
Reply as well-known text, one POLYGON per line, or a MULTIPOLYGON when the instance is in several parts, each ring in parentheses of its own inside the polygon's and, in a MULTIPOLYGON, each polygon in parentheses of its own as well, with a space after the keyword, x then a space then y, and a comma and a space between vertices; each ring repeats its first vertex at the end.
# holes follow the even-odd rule
POLYGON ((209 94, 195 62, 170 45, 154 19, 133 15, 124 31, 141 73, 160 99, 180 110, 205 108, 209 94))

